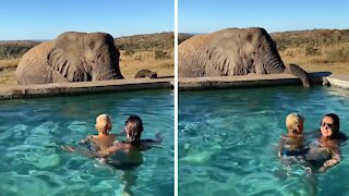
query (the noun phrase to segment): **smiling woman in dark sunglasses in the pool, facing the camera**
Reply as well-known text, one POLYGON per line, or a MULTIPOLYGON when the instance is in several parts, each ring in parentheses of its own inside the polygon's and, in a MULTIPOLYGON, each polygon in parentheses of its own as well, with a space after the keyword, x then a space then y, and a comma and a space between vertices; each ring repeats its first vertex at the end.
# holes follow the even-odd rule
POLYGON ((327 113, 320 123, 321 136, 310 145, 305 160, 318 168, 318 172, 325 172, 328 168, 338 164, 340 157, 339 118, 335 113, 327 113))

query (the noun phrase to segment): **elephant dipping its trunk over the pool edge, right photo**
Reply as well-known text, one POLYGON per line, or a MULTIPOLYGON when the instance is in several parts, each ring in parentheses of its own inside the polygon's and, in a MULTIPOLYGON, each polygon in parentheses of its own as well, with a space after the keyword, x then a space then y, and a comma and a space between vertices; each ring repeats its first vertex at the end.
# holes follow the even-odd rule
POLYGON ((310 87, 308 73, 285 65, 275 42, 263 28, 227 28, 196 35, 178 48, 179 77, 290 73, 310 87))

